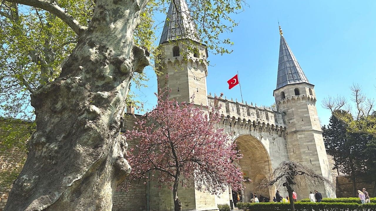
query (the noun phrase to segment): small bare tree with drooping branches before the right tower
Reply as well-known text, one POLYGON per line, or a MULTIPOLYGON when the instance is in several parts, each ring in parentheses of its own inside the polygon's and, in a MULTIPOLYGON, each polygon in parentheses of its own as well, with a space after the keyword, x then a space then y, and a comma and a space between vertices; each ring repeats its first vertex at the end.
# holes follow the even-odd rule
POLYGON ((294 211, 293 191, 299 188, 300 181, 305 183, 311 183, 312 185, 323 184, 325 187, 334 189, 334 185, 331 180, 321 176, 315 170, 295 161, 283 161, 279 166, 270 173, 270 175, 263 179, 259 188, 271 189, 286 187, 288 191, 288 197, 290 198, 291 211, 294 211), (316 182, 314 184, 314 181, 316 182))

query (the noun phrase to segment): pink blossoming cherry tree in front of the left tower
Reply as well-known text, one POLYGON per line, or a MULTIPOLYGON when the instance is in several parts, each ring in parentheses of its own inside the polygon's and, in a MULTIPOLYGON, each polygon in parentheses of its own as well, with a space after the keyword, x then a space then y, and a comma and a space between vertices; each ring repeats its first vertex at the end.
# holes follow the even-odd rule
POLYGON ((220 194, 227 186, 239 190, 243 173, 233 162, 241 155, 223 129, 215 128, 220 118, 215 107, 178 104, 167 92, 158 95, 156 108, 126 134, 127 139, 139 140, 128 153, 132 166, 128 181, 167 185, 173 191, 175 211, 181 210, 179 184, 212 194, 220 194), (185 182, 179 183, 182 178, 185 182))

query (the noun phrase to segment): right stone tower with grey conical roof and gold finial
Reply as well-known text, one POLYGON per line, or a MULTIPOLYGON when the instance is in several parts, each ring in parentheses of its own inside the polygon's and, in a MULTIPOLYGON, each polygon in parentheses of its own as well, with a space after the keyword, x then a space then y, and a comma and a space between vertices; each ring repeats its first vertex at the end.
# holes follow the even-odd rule
MULTIPOLYGON (((314 85, 309 83, 282 35, 282 30, 280 30, 277 88, 273 96, 288 128, 287 145, 290 160, 303 163, 321 175, 331 178, 317 115, 314 85)), ((323 188, 306 186, 305 192, 308 194, 310 190, 321 189, 319 191, 323 197, 334 196, 332 191, 323 188)))

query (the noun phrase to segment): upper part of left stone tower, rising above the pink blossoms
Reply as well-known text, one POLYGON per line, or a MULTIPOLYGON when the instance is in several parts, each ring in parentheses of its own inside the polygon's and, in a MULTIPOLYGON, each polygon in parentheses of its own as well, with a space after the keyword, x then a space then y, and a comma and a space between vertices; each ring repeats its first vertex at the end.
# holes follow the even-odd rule
POLYGON ((170 97, 178 102, 208 105, 206 76, 208 57, 206 45, 200 42, 185 0, 171 1, 159 47, 161 61, 156 68, 162 72, 158 84, 171 89, 170 97), (168 79, 166 81, 166 75, 168 79))

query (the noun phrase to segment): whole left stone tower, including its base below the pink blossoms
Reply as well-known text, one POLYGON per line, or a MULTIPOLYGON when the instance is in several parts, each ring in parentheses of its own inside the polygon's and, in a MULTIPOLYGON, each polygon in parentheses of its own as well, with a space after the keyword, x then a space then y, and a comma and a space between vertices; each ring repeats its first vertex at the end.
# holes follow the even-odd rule
MULTIPOLYGON (((206 76, 208 69, 206 45, 200 42, 195 24, 185 0, 171 1, 165 25, 159 42, 160 62, 156 68, 162 72, 158 76, 161 90, 171 89, 170 98, 180 102, 192 102, 200 106, 208 105, 206 76), (174 4, 175 3, 175 4, 174 4), (168 78, 166 79, 166 75, 168 78)), ((173 210, 172 191, 158 189, 150 182, 150 208, 158 211, 173 210)), ((196 190, 194 187, 178 187, 179 199, 185 210, 217 210, 217 202, 226 203, 229 199, 220 199, 215 195, 196 190)), ((227 197, 229 193, 223 193, 227 197)))

